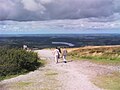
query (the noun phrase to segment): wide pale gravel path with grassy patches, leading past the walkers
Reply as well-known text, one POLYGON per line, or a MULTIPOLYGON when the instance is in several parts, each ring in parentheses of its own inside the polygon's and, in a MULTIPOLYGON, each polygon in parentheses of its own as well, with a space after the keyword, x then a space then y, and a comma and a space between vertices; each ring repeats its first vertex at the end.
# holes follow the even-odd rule
POLYGON ((47 65, 26 75, 1 81, 0 90, 102 90, 91 79, 114 70, 88 61, 63 63, 60 60, 56 64, 51 50, 36 52, 48 62, 47 65))

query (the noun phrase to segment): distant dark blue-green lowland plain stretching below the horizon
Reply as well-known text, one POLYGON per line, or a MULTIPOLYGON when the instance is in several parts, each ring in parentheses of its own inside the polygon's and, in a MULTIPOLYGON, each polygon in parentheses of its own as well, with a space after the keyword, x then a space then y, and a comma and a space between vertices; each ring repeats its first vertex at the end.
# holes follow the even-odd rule
POLYGON ((24 44, 29 48, 54 48, 52 42, 69 42, 74 47, 120 45, 119 34, 42 34, 42 35, 3 35, 0 36, 0 46, 21 48, 24 44))

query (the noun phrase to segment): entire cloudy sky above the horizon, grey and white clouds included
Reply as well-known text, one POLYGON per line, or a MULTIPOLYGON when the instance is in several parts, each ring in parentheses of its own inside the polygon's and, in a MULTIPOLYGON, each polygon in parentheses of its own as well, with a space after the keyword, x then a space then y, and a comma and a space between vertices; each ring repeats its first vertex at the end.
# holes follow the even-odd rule
POLYGON ((0 0, 0 34, 119 29, 120 0, 0 0))

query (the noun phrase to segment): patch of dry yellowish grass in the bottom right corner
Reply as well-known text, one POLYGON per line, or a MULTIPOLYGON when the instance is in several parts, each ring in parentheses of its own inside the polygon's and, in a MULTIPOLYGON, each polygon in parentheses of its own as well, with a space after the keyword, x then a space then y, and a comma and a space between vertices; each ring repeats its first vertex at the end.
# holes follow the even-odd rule
POLYGON ((92 82, 105 90, 120 90, 120 72, 98 76, 92 82))

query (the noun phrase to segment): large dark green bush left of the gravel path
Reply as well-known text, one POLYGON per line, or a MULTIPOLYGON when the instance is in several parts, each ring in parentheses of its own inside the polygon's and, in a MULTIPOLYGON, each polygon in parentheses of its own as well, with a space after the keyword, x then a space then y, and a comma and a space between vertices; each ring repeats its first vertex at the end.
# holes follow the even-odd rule
POLYGON ((41 65, 38 60, 38 55, 34 52, 0 48, 0 79, 33 71, 41 65))

